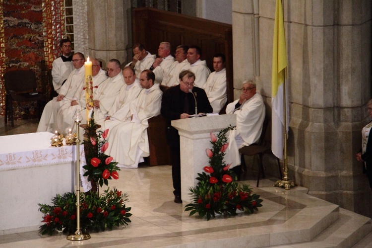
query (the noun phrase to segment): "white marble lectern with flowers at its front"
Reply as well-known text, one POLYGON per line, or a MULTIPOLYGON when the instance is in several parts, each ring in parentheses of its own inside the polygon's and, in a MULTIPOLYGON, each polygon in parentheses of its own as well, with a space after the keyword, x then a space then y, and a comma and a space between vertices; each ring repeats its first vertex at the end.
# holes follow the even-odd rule
POLYGON ((208 165, 206 149, 211 148, 210 133, 217 134, 224 128, 236 125, 236 115, 213 115, 172 121, 180 135, 181 151, 181 194, 189 203, 189 188, 196 186, 197 173, 208 165))

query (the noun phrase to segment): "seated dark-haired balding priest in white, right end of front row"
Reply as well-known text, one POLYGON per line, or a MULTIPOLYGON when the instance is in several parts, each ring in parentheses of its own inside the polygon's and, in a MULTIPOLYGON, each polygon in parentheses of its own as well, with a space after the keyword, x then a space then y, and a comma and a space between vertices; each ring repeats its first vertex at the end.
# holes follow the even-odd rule
POLYGON ((163 92, 155 82, 155 74, 150 70, 143 71, 139 76, 142 87, 138 97, 129 105, 125 121, 112 128, 107 140, 109 148, 106 154, 112 156, 118 166, 136 168, 143 157, 150 153, 147 127, 148 119, 160 114, 163 92))

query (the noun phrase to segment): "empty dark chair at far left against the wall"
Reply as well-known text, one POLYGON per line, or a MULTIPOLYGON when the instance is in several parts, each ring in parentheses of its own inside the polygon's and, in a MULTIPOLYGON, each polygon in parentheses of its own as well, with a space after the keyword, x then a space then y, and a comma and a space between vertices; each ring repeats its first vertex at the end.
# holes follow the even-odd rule
POLYGON ((9 112, 11 126, 14 127, 13 101, 37 101, 40 120, 43 96, 36 91, 35 73, 30 70, 6 72, 4 74, 4 84, 6 91, 5 123, 7 123, 9 112))

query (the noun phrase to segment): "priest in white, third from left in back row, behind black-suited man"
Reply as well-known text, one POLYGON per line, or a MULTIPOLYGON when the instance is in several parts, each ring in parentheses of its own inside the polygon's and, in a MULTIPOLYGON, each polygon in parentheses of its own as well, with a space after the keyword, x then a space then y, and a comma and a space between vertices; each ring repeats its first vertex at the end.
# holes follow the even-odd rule
POLYGON ((180 72, 186 71, 187 68, 190 67, 190 64, 187 61, 187 50, 188 46, 186 45, 179 45, 176 48, 175 53, 175 62, 172 63, 172 65, 169 68, 168 73, 165 73, 163 76, 162 85, 172 87, 175 85, 178 85, 180 83, 178 76, 180 75, 180 72))

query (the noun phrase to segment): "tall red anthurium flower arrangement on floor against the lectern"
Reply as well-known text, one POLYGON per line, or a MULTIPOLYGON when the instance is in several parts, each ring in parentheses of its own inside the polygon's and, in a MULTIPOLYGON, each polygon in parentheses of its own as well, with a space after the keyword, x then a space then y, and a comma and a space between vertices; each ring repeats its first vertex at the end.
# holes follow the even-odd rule
POLYGON ((209 165, 204 166, 203 172, 198 173, 198 183, 191 187, 189 193, 192 202, 187 204, 185 211, 190 211, 189 216, 198 213, 200 217, 210 220, 216 214, 226 216, 237 215, 237 209, 253 213, 261 207, 262 199, 253 194, 249 185, 238 186, 236 174, 230 170, 231 164, 224 162, 227 143, 226 133, 235 127, 221 130, 217 137, 211 133, 212 149, 207 149, 209 165))

